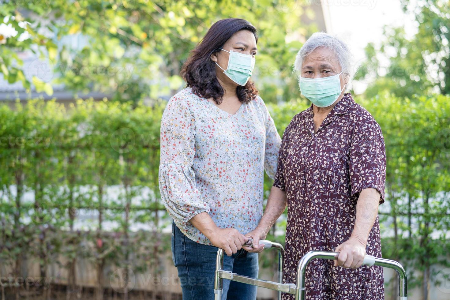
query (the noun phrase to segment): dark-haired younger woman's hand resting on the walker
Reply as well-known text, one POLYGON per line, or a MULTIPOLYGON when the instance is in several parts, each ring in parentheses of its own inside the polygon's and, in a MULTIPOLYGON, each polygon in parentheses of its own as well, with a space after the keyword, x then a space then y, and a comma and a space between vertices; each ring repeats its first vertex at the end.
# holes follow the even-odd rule
POLYGON ((212 245, 222 248, 228 256, 241 250, 247 241, 247 238, 234 228, 217 227, 208 238, 212 245))

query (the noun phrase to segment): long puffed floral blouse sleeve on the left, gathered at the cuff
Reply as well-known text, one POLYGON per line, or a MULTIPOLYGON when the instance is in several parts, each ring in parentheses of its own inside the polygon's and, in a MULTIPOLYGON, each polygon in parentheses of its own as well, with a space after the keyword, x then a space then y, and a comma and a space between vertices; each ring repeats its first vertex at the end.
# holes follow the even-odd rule
MULTIPOLYGON (((159 190, 169 215, 182 231, 194 215, 209 212, 196 188, 192 168, 195 154, 195 122, 187 100, 172 97, 161 120, 159 190)), ((183 230, 184 229, 184 230, 183 230)))

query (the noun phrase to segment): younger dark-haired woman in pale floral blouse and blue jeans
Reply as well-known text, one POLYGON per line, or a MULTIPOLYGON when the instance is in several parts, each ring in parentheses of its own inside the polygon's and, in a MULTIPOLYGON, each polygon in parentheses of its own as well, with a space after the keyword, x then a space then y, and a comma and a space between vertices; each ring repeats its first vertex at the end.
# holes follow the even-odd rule
MULTIPOLYGON (((161 199, 173 219, 172 259, 183 299, 214 299, 217 247, 224 269, 257 277, 263 247, 247 237, 262 216, 264 170, 273 178, 281 139, 249 81, 256 28, 230 18, 212 25, 191 52, 161 121, 161 199), (258 249, 259 248, 259 249, 258 249)), ((256 299, 256 287, 224 281, 228 299, 256 299)))

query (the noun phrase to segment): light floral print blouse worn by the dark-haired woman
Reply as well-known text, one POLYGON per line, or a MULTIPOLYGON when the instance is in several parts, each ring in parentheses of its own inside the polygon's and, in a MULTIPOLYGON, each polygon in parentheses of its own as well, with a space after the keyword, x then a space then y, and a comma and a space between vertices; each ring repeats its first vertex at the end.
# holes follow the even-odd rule
POLYGON ((191 240, 211 242, 189 221, 207 212, 220 228, 246 234, 262 216, 264 170, 274 178, 281 143, 257 96, 230 114, 185 88, 161 120, 159 189, 169 215, 191 240))

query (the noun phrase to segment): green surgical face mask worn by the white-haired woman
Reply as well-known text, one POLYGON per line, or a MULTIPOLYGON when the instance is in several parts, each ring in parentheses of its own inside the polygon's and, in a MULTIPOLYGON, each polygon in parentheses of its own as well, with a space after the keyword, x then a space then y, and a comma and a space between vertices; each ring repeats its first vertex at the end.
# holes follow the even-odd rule
POLYGON ((339 75, 341 74, 342 71, 339 74, 328 77, 300 77, 300 92, 317 107, 330 106, 344 90, 344 88, 341 90, 341 81, 339 80, 339 75))

